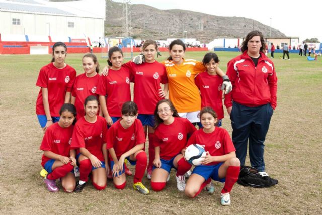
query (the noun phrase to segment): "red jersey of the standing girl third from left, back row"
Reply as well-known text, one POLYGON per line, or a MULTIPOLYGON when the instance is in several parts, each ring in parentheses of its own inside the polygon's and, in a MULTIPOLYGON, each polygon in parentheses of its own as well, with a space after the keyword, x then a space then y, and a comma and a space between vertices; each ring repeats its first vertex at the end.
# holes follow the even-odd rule
POLYGON ((118 71, 109 69, 109 75, 101 77, 96 94, 107 95, 106 106, 111 117, 121 117, 123 103, 131 100, 131 79, 130 71, 125 67, 118 71))

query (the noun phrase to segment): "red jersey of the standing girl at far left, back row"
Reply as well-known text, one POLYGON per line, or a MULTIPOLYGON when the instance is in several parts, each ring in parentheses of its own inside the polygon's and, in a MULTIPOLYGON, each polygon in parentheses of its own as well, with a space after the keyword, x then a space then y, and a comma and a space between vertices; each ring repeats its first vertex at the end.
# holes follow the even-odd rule
MULTIPOLYGON (((76 71, 69 65, 58 69, 53 63, 49 63, 40 69, 36 86, 48 89, 48 102, 52 117, 59 117, 59 110, 65 102, 66 91, 71 91, 75 77, 76 71)), ((45 115, 41 89, 37 97, 36 114, 45 115)))

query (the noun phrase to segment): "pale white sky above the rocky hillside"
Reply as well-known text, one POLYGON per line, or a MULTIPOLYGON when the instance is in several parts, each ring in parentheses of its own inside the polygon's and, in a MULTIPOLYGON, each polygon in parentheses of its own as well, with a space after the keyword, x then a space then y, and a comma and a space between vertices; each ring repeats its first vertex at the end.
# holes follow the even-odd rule
MULTIPOLYGON (((122 0, 113 0, 122 2, 122 0)), ((182 9, 216 16, 246 17, 280 30, 286 36, 322 42, 322 1, 290 0, 131 0, 154 8, 182 9), (197 4, 196 4, 197 3, 197 4)))

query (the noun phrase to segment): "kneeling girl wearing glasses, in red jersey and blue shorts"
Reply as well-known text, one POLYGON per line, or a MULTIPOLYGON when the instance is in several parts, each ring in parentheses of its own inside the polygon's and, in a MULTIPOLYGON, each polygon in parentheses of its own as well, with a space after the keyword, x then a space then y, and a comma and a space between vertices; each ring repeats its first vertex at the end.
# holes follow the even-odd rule
POLYGON ((184 191, 186 182, 184 174, 191 168, 185 161, 181 150, 186 146, 188 136, 197 129, 185 118, 178 115, 170 100, 161 100, 155 111, 155 159, 151 187, 154 191, 162 190, 171 168, 177 169, 176 179, 179 191, 184 191))

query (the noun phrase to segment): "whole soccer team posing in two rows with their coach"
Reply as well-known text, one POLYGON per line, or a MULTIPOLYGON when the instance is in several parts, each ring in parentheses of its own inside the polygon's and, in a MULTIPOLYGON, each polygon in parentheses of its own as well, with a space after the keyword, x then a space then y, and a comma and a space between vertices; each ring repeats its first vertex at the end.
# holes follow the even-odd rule
MULTIPOLYGON (((245 123, 237 117, 244 116, 242 112, 248 109, 247 113, 253 113, 245 117, 247 120, 258 115, 262 119, 265 109, 270 119, 276 107, 275 69, 263 54, 263 35, 254 32, 243 42, 243 54, 228 63, 230 80, 218 67, 215 53, 207 53, 202 62, 185 59, 186 48, 181 40, 170 44, 170 57, 163 63, 155 60, 158 48, 153 40, 146 40, 142 54, 125 64, 122 50, 112 47, 102 75, 98 74, 96 56, 87 53, 82 58, 85 72, 77 77, 76 71, 64 62, 66 45, 55 43, 53 59, 41 68, 36 83, 41 87, 36 114, 45 133, 40 146, 44 152, 41 174, 45 175, 48 190, 58 191, 56 179, 60 178, 66 192, 81 192, 89 177, 97 190, 105 189, 107 178, 113 180, 115 188, 124 189, 126 175, 132 175, 127 168, 130 163, 135 165, 133 188, 140 193, 149 193, 142 184, 145 170, 150 187, 161 191, 174 168, 178 190, 191 198, 204 188, 212 194, 212 179, 225 182, 221 204, 230 205, 229 193, 238 179, 240 164, 245 163, 248 138, 240 136, 249 130, 250 151, 251 142, 257 141, 252 123, 242 128, 239 124, 245 123), (252 76, 256 77, 253 85, 252 76), (134 82, 134 101, 130 82, 134 82), (168 93, 169 99, 165 99, 168 93), (232 139, 220 127, 223 97, 234 121, 232 139), (234 112, 240 113, 235 116, 234 112), (192 166, 184 153, 187 146, 196 143, 204 147, 206 155, 191 173, 192 166)), ((266 135, 267 130, 259 132, 260 141, 261 132, 266 135)), ((263 165, 264 140, 252 149, 250 159, 252 166, 267 174, 263 165), (258 147, 262 152, 256 151, 258 147)))

